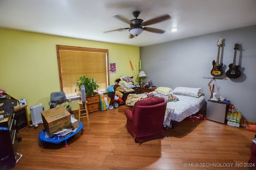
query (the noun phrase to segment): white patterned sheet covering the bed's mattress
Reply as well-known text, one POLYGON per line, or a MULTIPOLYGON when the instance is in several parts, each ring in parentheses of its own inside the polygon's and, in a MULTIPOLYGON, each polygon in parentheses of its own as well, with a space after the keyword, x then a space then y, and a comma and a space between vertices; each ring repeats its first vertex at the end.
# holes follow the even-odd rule
POLYGON ((166 106, 167 114, 170 114, 169 117, 172 121, 180 122, 186 117, 197 113, 205 103, 203 95, 198 98, 176 94, 174 94, 174 96, 176 96, 179 101, 168 102, 166 106))

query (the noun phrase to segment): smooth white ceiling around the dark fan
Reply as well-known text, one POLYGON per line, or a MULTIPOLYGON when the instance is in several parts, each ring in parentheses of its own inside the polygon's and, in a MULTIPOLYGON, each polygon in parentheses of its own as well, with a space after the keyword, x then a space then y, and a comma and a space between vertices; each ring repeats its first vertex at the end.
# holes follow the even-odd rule
POLYGON ((0 0, 1 28, 139 47, 250 25, 256 25, 256 0, 0 0), (113 15, 132 20, 135 10, 144 21, 169 14, 149 26, 166 32, 132 39, 128 29, 104 33, 129 27, 113 15))

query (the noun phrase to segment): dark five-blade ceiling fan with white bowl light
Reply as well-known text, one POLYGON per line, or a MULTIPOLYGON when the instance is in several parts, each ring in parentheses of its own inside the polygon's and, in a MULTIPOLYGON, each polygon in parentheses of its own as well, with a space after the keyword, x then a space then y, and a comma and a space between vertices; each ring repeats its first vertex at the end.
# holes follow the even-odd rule
POLYGON ((156 28, 144 27, 144 26, 151 25, 151 24, 154 24, 154 23, 158 23, 158 22, 161 22, 161 21, 164 21, 164 20, 167 20, 167 19, 171 18, 168 14, 164 14, 162 16, 159 16, 159 17, 156 17, 156 18, 153 18, 151 20, 148 20, 148 21, 144 22, 142 19, 138 19, 138 16, 140 15, 139 11, 132 12, 132 15, 136 19, 128 20, 128 19, 124 18, 121 15, 118 15, 118 14, 114 15, 114 17, 118 18, 119 20, 122 20, 122 21, 130 24, 130 27, 118 28, 118 29, 114 29, 114 30, 110 30, 110 31, 105 31, 104 33, 111 32, 111 31, 123 31, 125 29, 129 29, 130 38, 133 38, 134 36, 137 37, 144 30, 154 32, 154 33, 164 33, 165 31, 162 30, 162 29, 156 29, 156 28))

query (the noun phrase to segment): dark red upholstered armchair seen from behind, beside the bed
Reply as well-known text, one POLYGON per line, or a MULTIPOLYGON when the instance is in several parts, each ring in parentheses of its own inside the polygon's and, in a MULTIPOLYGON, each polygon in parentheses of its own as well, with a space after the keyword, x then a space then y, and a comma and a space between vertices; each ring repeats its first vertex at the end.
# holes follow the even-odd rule
POLYGON ((125 110, 126 128, 136 143, 164 136, 163 122, 166 104, 164 98, 152 98, 136 102, 132 111, 125 110))

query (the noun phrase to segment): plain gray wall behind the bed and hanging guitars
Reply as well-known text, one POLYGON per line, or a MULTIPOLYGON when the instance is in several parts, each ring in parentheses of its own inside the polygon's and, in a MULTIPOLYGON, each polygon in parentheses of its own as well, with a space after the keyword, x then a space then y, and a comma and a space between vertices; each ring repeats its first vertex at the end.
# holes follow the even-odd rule
POLYGON ((247 120, 256 122, 256 25, 140 47, 141 70, 157 87, 201 87, 208 100, 210 79, 203 77, 212 78, 212 61, 217 59, 220 38, 224 74, 216 78, 226 78, 228 65, 233 63, 235 43, 239 44, 236 65, 240 65, 241 71, 239 78, 216 80, 220 96, 228 98, 247 120))

